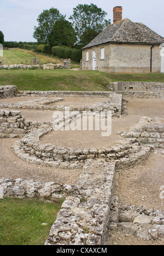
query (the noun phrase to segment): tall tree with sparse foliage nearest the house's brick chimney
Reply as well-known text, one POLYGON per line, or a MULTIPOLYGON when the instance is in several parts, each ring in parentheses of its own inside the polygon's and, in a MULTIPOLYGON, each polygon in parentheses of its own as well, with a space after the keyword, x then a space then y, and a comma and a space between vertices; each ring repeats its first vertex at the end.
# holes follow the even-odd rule
POLYGON ((79 44, 86 45, 110 25, 110 20, 105 19, 106 15, 105 11, 92 3, 79 4, 73 8, 73 15, 69 19, 73 21, 79 44))

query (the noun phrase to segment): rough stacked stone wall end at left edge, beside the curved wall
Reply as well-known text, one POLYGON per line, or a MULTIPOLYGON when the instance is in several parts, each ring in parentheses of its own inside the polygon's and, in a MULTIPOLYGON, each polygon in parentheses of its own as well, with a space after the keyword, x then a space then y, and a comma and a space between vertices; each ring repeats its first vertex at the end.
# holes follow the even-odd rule
POLYGON ((20 111, 0 110, 0 138, 21 138, 27 130, 20 111))

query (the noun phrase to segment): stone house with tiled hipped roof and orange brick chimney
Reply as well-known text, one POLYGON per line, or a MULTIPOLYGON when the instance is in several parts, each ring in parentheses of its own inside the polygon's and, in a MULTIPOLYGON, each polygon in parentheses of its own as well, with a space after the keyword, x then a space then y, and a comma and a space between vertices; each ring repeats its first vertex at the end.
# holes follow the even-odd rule
POLYGON ((113 19, 82 49, 82 68, 109 73, 164 72, 160 55, 164 38, 142 23, 122 20, 122 7, 113 9, 113 19))

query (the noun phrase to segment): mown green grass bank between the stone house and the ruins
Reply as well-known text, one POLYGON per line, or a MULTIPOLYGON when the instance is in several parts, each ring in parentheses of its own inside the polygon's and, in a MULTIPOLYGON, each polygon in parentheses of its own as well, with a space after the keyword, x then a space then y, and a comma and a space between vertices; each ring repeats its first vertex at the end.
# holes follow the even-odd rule
POLYGON ((110 82, 142 81, 164 83, 164 74, 110 74, 98 71, 0 70, 0 85, 18 90, 107 91, 110 82))

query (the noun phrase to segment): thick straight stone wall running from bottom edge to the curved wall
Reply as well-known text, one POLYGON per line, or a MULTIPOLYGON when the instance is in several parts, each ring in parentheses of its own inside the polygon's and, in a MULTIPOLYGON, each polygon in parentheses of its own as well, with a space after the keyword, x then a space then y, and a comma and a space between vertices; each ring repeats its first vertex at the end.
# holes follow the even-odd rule
POLYGON ((109 225, 115 166, 86 162, 63 202, 45 245, 104 245, 109 225))

